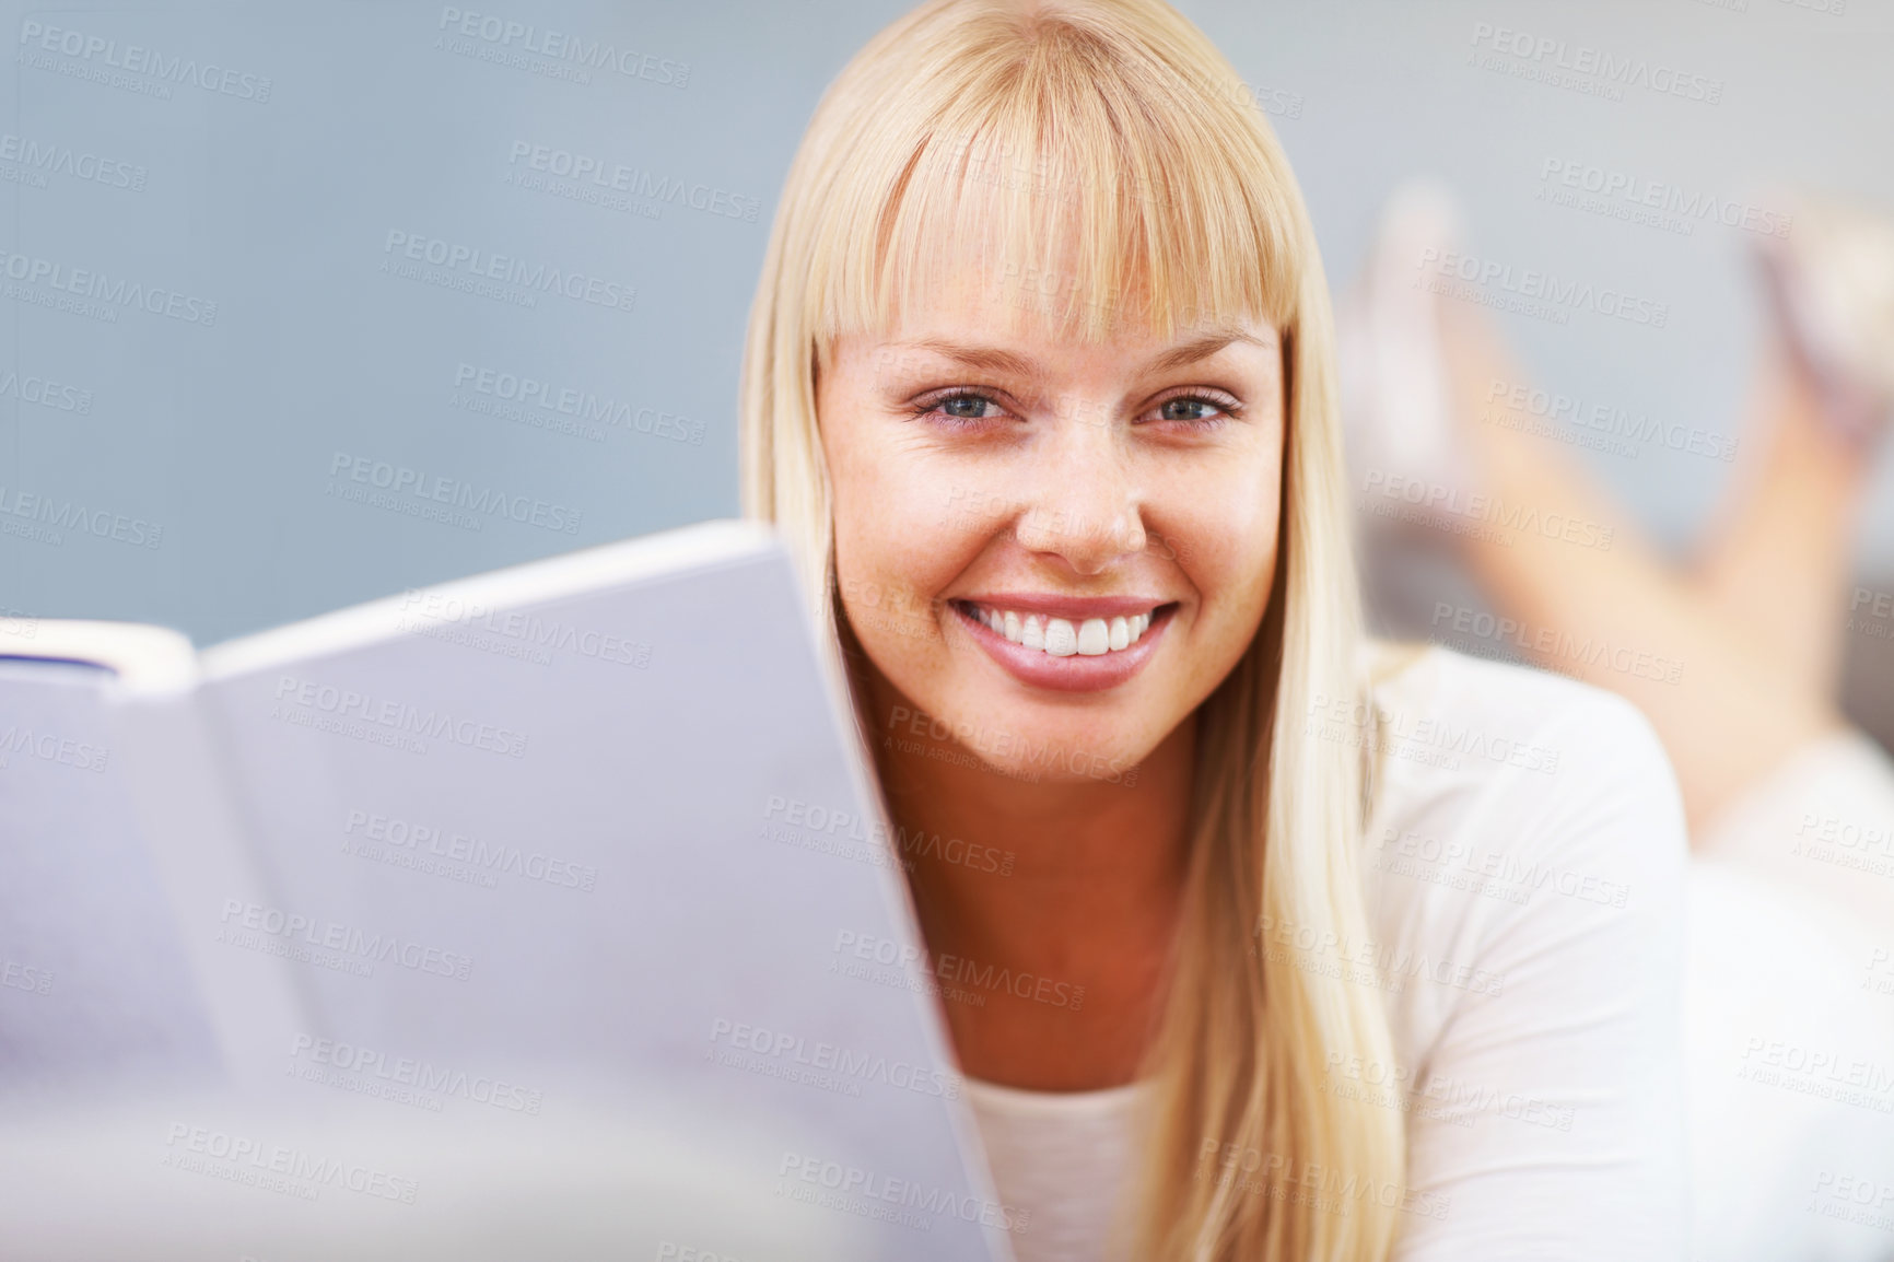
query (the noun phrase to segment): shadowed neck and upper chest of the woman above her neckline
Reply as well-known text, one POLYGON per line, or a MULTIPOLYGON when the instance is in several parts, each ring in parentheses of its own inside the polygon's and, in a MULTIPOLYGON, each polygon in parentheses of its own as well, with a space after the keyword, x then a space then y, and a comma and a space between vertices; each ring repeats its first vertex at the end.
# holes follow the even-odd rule
MULTIPOLYGON (((867 673, 879 712, 911 705, 867 673)), ((1195 737, 1191 714, 1135 775, 1036 781, 958 745, 875 739, 932 980, 970 1076, 1047 1091, 1136 1076, 1178 927, 1195 737)))

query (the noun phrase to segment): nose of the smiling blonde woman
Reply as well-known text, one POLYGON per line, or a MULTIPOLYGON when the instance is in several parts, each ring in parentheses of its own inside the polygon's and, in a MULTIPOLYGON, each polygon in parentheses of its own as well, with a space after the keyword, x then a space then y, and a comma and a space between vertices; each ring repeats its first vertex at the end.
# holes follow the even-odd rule
POLYGON ((1100 574, 1144 551, 1142 491, 1127 436, 1112 413, 1085 400, 1063 402, 1034 451, 1013 538, 1078 574, 1100 574))

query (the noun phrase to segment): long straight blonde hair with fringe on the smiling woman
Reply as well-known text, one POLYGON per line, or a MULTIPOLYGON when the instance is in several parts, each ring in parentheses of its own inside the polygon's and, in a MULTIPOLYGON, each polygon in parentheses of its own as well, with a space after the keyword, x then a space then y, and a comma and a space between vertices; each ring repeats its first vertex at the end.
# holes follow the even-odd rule
POLYGON ((1364 684, 1328 286, 1301 191, 1229 63, 1161 0, 930 0, 856 53, 790 167, 741 387, 744 514, 795 557, 837 680, 849 629, 816 375, 835 337, 894 328, 938 292, 949 239, 977 243, 1015 311, 1047 307, 1066 334, 1133 316, 1161 337, 1246 316, 1282 334, 1277 582, 1199 711, 1136 1256, 1381 1260, 1402 1116, 1326 1080, 1330 1055, 1394 1054, 1377 983, 1335 949, 1367 940, 1364 733, 1311 722, 1360 712, 1364 684), (1059 279, 1055 301, 1034 277, 1059 279), (1133 292, 1127 315, 1110 296, 1133 292))

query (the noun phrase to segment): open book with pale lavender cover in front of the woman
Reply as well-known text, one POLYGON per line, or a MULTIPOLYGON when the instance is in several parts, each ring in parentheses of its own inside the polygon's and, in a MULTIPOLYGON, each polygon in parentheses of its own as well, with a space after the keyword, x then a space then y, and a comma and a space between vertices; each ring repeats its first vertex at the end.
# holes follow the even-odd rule
POLYGON ((845 707, 746 521, 0 625, 9 1256, 1010 1256, 845 707))

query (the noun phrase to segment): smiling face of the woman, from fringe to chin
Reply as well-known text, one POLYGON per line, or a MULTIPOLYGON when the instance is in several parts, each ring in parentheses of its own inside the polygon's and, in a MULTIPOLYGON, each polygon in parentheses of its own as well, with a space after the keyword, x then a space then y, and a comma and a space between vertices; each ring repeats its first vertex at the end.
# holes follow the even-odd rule
POLYGON ((816 413, 843 610, 879 675, 875 735, 1116 781, 1269 603, 1280 341, 1248 322, 1083 345, 1010 335, 1015 315, 968 296, 837 341, 816 413))

